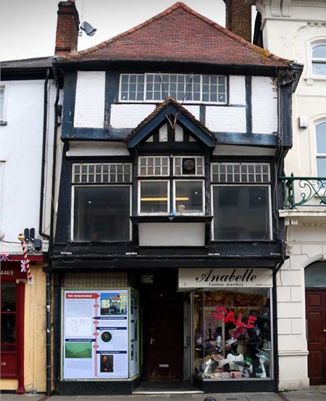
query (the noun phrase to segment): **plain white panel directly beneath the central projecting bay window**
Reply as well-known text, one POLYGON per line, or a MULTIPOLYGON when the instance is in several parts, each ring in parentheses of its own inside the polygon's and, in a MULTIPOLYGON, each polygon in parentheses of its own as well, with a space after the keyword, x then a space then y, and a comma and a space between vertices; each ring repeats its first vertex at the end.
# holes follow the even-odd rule
POLYGON ((139 223, 140 246, 204 246, 205 223, 139 223))

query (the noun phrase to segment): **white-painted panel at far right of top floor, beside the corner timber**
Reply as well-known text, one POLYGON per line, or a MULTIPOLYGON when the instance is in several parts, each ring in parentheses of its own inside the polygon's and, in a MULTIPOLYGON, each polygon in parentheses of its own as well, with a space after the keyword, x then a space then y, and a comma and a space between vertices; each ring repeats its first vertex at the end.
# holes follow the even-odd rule
POLYGON ((252 77, 251 81, 252 132, 277 132, 277 93, 271 77, 252 77))

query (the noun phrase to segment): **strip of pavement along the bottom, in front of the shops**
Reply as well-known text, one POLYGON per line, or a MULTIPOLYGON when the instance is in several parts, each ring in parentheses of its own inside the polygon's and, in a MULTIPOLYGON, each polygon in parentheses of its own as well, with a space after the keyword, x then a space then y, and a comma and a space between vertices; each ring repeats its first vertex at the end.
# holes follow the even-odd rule
POLYGON ((1 401, 326 401, 326 386, 282 393, 168 394, 133 396, 52 396, 1 394, 1 401))

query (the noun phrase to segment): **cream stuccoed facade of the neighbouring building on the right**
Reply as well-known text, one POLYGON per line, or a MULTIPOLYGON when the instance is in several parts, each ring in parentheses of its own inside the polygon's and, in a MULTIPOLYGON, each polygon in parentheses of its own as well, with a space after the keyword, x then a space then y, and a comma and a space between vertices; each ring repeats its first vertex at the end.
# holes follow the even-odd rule
MULTIPOLYGON (((293 95, 293 148, 285 158, 285 174, 321 176, 317 171, 316 126, 326 122, 326 74, 313 73, 312 48, 326 45, 326 1, 248 2, 261 13, 264 48, 304 64, 293 95), (300 128, 300 117, 305 128, 300 128)), ((317 181, 312 187, 296 183, 297 201, 301 192, 308 196, 310 189, 318 191, 320 186, 317 181)), ((326 199, 325 189, 319 194, 322 196, 311 197, 309 206, 279 211, 285 218, 289 256, 277 276, 279 390, 309 387, 304 269, 313 262, 326 261, 326 205, 318 206, 326 199)))

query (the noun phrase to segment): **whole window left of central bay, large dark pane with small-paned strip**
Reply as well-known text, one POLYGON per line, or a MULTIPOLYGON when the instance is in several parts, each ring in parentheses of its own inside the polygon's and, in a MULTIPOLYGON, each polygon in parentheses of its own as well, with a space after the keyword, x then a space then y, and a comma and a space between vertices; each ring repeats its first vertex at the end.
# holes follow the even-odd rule
POLYGON ((131 163, 72 168, 72 241, 130 241, 131 163))

